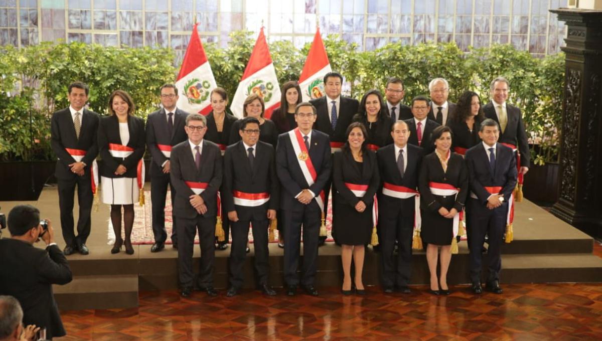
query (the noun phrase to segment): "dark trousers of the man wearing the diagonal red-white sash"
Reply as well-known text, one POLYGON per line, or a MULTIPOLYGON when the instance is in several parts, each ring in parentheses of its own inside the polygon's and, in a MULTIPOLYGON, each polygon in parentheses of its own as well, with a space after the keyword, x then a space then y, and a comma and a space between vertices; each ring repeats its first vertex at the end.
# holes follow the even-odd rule
POLYGON ((284 213, 284 281, 289 286, 299 285, 297 266, 303 224, 303 275, 301 284, 314 285, 318 260, 318 236, 320 236, 321 210, 315 200, 304 205, 293 203, 284 213))

